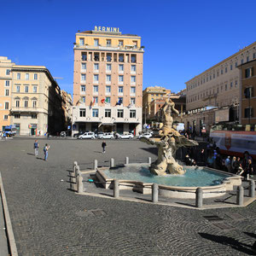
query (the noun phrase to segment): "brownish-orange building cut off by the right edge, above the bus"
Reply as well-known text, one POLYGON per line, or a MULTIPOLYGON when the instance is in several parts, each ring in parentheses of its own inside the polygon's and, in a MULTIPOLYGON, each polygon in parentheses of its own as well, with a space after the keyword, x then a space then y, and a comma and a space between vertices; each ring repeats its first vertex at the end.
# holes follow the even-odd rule
POLYGON ((256 125, 256 58, 238 68, 241 71, 241 124, 256 125))

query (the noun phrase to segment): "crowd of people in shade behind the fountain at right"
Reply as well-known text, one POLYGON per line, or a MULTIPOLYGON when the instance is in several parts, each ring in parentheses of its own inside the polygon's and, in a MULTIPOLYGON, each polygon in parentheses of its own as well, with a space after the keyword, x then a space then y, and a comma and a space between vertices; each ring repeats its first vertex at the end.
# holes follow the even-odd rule
POLYGON ((224 156, 220 154, 219 148, 213 143, 212 147, 202 148, 199 154, 196 154, 196 148, 189 148, 185 156, 187 166, 208 166, 224 172, 231 172, 241 175, 245 180, 253 176, 253 159, 246 151, 242 159, 240 157, 224 156))

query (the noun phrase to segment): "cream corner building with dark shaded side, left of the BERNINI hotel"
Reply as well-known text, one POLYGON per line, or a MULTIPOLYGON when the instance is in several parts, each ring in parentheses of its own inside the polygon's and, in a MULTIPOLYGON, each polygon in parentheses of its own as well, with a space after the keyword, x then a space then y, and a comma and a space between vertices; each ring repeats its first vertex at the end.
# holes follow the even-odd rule
POLYGON ((10 123, 17 134, 43 136, 63 127, 61 90, 44 66, 18 66, 11 69, 10 123))

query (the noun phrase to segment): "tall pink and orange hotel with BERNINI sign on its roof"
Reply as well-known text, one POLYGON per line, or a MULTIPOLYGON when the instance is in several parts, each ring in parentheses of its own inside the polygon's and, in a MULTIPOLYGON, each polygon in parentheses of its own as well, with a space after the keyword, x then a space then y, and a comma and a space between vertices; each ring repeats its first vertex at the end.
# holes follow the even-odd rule
POLYGON ((76 33, 73 50, 73 132, 142 131, 141 38, 95 26, 76 33))

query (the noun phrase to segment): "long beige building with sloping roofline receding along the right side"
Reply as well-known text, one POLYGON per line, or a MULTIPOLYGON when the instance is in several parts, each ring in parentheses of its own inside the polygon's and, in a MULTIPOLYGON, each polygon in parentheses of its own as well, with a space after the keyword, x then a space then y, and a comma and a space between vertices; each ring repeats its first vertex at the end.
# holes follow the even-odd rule
POLYGON ((256 58, 256 42, 186 82, 186 127, 207 131, 214 123, 241 122, 241 73, 237 68, 256 58))

